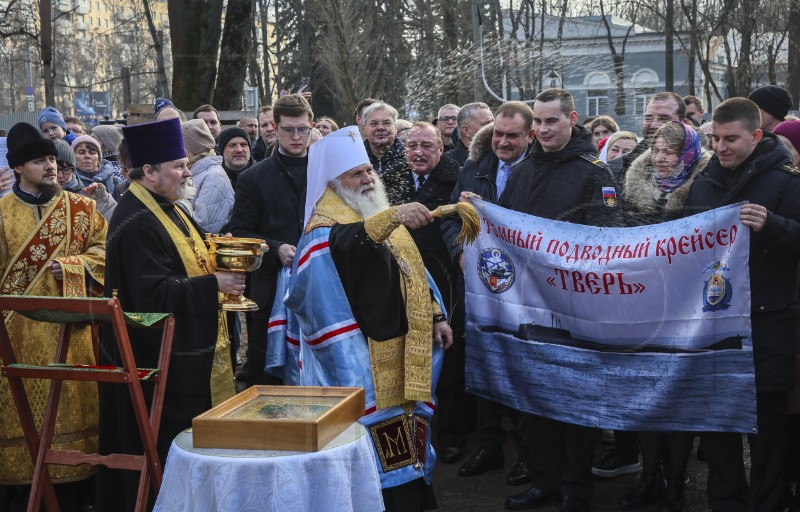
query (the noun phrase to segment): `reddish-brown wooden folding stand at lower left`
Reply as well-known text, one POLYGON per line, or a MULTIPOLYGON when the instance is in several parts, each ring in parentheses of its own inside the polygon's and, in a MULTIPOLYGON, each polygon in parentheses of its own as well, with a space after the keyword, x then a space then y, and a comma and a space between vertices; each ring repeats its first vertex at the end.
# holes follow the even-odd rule
MULTIPOLYGON (((25 433, 25 441, 34 461, 33 485, 28 502, 28 512, 38 512, 42 498, 49 511, 58 512, 58 502, 53 488, 48 464, 76 466, 104 465, 110 469, 139 471, 139 489, 136 510, 144 511, 148 503, 148 491, 158 494, 161 487, 162 467, 156 452, 156 439, 164 405, 164 389, 167 380, 169 356, 175 319, 169 315, 123 313, 119 300, 57 297, 23 297, 0 295, 0 311, 16 311, 33 320, 61 324, 56 346, 55 361, 45 366, 17 364, 5 322, 0 322, 0 357, 3 366, 0 373, 8 377, 11 393, 25 433), (146 320, 145 320, 146 318, 146 320), (93 339, 98 340, 98 323, 110 323, 119 348, 121 367, 100 367, 66 364, 70 333, 74 325, 92 326, 93 339), (162 329, 161 352, 158 368, 139 370, 131 351, 127 326, 160 327, 162 329), (50 393, 45 407, 41 436, 37 432, 23 378, 50 380, 50 393), (82 453, 74 450, 56 450, 51 447, 55 434, 56 416, 61 398, 62 382, 79 380, 125 384, 131 396, 136 423, 144 447, 144 454, 82 453), (141 380, 154 382, 150 412, 145 406, 141 380)), ((95 355, 97 351, 95 350, 95 355)))

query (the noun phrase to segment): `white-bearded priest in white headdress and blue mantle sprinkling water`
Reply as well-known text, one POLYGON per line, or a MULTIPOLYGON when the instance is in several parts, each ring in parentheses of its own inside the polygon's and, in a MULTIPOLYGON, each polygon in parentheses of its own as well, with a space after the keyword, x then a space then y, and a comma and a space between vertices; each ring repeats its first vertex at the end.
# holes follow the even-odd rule
POLYGON ((387 511, 435 508, 432 397, 452 343, 441 296, 408 228, 419 203, 389 208, 355 127, 309 151, 305 229, 285 304, 301 331, 301 381, 360 386, 387 511))

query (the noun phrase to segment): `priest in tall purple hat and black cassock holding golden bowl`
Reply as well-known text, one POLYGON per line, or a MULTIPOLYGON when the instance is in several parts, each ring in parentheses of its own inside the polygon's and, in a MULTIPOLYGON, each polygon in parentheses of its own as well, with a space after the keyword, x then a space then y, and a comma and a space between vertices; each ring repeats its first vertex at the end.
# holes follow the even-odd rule
MULTIPOLYGON (((192 418, 234 395, 225 315, 219 294, 240 295, 244 274, 213 271, 204 232, 176 202, 191 177, 178 119, 123 128, 133 168, 131 185, 109 223, 106 295, 117 292, 125 311, 171 313, 175 334, 158 433, 163 464, 172 439, 192 418)), ((119 365, 116 343, 106 333, 104 364, 119 365)), ((153 368, 160 330, 129 330, 139 367, 153 368)), ((143 385, 150 401, 152 388, 143 385)), ((149 406, 149 405, 148 405, 149 406)), ((128 391, 100 388, 100 452, 142 453, 128 391)), ((130 510, 138 475, 104 470, 98 476, 97 510, 130 510), (127 482, 125 478, 133 478, 127 482)))

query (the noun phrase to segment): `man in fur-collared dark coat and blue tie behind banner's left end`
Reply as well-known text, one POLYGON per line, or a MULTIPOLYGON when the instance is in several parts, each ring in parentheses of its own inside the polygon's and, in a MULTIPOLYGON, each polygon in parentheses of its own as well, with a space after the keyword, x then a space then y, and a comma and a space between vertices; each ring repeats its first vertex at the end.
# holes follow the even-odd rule
MULTIPOLYGON (((475 136, 470 148, 470 159, 461 169, 456 188, 450 196, 450 202, 466 200, 468 196, 480 196, 484 200, 496 203, 506 189, 508 176, 514 165, 525 158, 533 131, 533 112, 525 103, 509 101, 497 110, 494 124, 487 125, 475 136)), ((461 230, 461 219, 452 216, 442 222, 442 232, 450 257, 456 268, 463 271, 464 259, 462 247, 456 243, 456 236, 461 230)), ((454 311, 452 356, 460 356, 461 371, 464 368, 464 275, 458 274, 456 283, 459 307, 454 311)), ((519 412, 485 398, 477 399, 479 448, 472 457, 458 470, 461 476, 474 476, 489 469, 502 468, 504 465, 503 442, 505 431, 501 427, 504 412, 508 413, 515 425, 514 438, 517 445, 517 463, 508 475, 508 485, 520 485, 530 481, 528 475, 528 454, 525 443, 519 436, 519 412)), ((443 450, 443 462, 455 462, 461 454, 460 445, 466 437, 468 422, 461 422, 452 432, 452 450, 443 450)))

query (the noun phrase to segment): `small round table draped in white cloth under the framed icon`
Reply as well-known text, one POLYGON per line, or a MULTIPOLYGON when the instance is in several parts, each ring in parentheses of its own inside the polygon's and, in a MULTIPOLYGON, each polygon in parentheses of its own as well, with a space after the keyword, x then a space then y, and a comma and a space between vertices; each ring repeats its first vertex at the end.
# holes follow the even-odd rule
POLYGON ((318 452, 194 448, 186 430, 172 442, 154 511, 383 509, 372 443, 353 423, 318 452))

